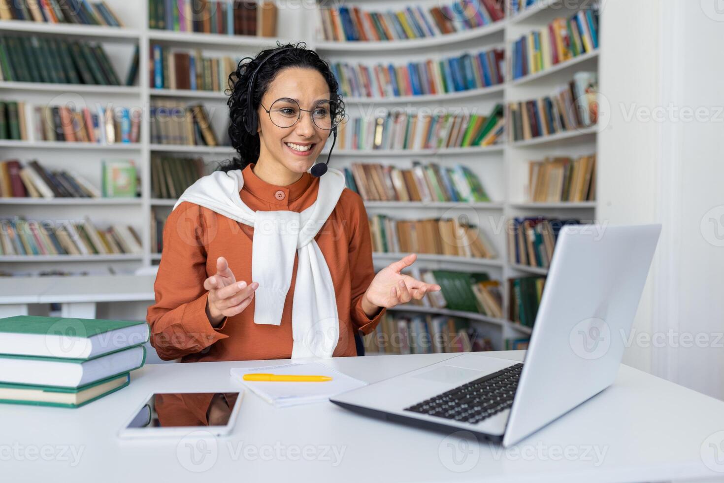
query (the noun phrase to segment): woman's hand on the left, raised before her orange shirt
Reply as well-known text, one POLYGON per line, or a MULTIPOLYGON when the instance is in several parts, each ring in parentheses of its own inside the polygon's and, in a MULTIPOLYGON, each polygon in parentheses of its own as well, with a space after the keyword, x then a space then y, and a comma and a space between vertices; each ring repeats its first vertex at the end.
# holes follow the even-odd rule
POLYGON ((206 316, 211 325, 221 324, 224 317, 239 314, 250 303, 254 296, 257 282, 246 285, 246 282, 237 282, 229 269, 229 264, 223 256, 216 259, 216 274, 203 281, 203 288, 209 290, 206 298, 206 316))

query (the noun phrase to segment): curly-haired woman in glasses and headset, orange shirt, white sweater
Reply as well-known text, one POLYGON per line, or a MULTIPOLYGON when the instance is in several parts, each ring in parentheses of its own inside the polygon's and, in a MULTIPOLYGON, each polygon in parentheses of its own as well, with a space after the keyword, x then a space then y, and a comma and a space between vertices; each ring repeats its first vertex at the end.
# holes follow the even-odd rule
POLYGON ((277 46, 229 80, 239 156, 167 219, 151 344, 165 360, 355 356, 355 332, 440 287, 400 274, 414 253, 375 275, 362 199, 338 170, 308 172, 344 117, 327 62, 303 43, 277 46))

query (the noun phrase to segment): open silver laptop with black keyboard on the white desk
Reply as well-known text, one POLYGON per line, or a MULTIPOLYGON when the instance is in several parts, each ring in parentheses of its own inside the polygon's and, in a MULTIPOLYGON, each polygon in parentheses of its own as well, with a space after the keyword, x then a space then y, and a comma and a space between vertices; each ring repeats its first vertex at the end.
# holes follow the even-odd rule
POLYGON ((564 226, 523 364, 465 353, 330 400, 515 444, 611 385, 660 232, 660 224, 564 226))

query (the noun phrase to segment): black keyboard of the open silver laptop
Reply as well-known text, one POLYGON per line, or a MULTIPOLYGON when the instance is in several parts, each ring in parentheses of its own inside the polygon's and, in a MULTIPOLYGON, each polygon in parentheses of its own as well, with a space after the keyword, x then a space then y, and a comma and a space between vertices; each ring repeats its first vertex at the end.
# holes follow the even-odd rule
POLYGON ((405 408, 405 411, 479 423, 513 406, 522 369, 523 364, 506 367, 405 408))

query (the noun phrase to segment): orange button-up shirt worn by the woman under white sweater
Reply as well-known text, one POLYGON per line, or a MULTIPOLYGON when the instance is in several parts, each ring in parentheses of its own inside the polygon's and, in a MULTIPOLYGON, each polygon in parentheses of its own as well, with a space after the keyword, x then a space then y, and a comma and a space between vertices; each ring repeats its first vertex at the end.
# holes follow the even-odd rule
MULTIPOLYGON (((316 201, 319 178, 309 173, 291 185, 271 185, 243 169, 240 197, 252 210, 303 211, 316 201)), ((240 361, 290 358, 292 301, 298 256, 284 302, 282 322, 254 324, 255 299, 240 314, 214 328, 206 316, 203 282, 216 273, 216 259, 227 259, 237 282, 251 284, 253 227, 185 201, 169 215, 164 227, 164 251, 153 290, 156 303, 148 308, 151 345, 164 360, 240 361)), ((362 295, 374 278, 369 222, 362 198, 342 191, 337 206, 314 237, 334 282, 340 338, 334 356, 356 356, 354 334, 374 330, 385 308, 373 318, 362 310, 362 295)), ((281 301, 280 301, 281 302, 281 301)))

